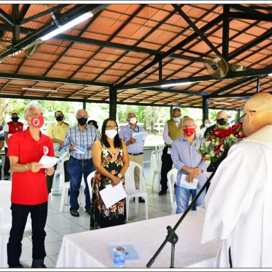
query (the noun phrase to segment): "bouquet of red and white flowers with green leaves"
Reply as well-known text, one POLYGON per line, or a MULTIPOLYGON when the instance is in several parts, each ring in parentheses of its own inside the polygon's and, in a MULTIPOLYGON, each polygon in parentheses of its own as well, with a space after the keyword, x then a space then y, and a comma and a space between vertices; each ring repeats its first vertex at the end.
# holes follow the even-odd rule
POLYGON ((244 137, 245 134, 240 125, 233 125, 230 128, 221 126, 203 140, 199 152, 204 161, 216 162, 226 148, 233 145, 237 139, 244 137))

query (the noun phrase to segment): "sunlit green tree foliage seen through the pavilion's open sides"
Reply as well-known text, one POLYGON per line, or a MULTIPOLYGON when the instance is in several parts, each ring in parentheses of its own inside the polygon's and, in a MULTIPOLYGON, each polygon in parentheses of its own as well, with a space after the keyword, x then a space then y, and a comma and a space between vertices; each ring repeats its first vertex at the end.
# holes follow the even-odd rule
MULTIPOLYGON (((0 105, 4 108, 0 112, 0 122, 3 124, 10 121, 10 115, 13 112, 17 112, 20 119, 24 118, 24 108, 31 102, 38 102, 44 112, 45 125, 54 122, 54 112, 61 110, 65 116, 65 122, 70 126, 77 123, 76 112, 83 108, 81 102, 65 102, 65 101, 46 101, 46 100, 29 100, 29 99, 4 99, 1 98, 0 105)), ((199 129, 202 124, 202 109, 198 108, 180 108, 181 118, 183 116, 189 116, 193 118, 199 129)), ((101 129, 103 121, 109 117, 109 104, 102 103, 87 103, 86 110, 89 113, 88 120, 95 120, 98 123, 98 127, 101 129)), ((214 121, 216 114, 220 110, 209 110, 209 119, 214 121)), ((157 123, 164 124, 171 118, 170 107, 153 107, 153 106, 136 106, 136 105, 117 105, 116 121, 118 124, 127 123, 127 116, 130 112, 134 112, 138 117, 138 122, 143 123, 143 127, 148 133, 158 133, 156 128, 157 123)), ((236 118, 236 111, 227 111, 230 120, 236 118)))

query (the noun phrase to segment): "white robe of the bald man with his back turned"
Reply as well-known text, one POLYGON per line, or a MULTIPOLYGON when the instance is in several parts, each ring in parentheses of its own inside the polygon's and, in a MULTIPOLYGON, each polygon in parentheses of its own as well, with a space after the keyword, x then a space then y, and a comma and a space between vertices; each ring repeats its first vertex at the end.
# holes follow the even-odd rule
POLYGON ((205 198, 202 243, 221 239, 215 267, 272 268, 272 125, 229 149, 205 198))

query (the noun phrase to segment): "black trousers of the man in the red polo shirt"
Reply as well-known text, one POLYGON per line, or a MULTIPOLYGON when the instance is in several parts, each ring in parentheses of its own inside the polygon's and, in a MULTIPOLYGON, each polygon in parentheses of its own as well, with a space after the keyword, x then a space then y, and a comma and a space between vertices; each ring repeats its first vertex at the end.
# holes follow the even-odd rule
POLYGON ((38 205, 21 205, 11 203, 12 227, 7 243, 7 263, 9 267, 20 265, 22 239, 28 214, 32 223, 32 258, 44 259, 45 253, 45 223, 47 219, 47 202, 38 205))

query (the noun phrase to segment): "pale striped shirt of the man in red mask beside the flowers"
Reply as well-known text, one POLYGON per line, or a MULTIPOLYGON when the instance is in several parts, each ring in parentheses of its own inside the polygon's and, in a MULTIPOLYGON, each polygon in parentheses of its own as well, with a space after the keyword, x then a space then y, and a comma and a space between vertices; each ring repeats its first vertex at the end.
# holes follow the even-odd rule
MULTIPOLYGON (((185 139, 185 136, 181 136, 172 143, 171 157, 173 164, 176 169, 178 169, 177 184, 180 184, 181 175, 188 175, 187 172, 181 171, 183 166, 189 168, 201 168, 202 171, 207 171, 209 163, 202 161, 200 153, 198 150, 200 148, 202 138, 195 136, 192 144, 185 139)), ((197 187, 200 188, 204 185, 207 177, 204 173, 199 174, 196 179, 198 179, 197 187)))

